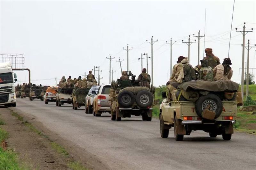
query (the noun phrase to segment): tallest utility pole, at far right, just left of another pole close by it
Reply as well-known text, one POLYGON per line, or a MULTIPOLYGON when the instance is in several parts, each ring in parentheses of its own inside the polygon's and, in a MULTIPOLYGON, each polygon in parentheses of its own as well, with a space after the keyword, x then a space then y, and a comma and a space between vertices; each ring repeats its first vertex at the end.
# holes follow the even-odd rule
POLYGON ((252 31, 245 31, 245 22, 244 22, 243 31, 237 31, 237 28, 236 28, 236 32, 240 32, 243 35, 241 93, 242 93, 242 97, 244 97, 244 45, 245 45, 245 35, 248 32, 252 32, 252 31))

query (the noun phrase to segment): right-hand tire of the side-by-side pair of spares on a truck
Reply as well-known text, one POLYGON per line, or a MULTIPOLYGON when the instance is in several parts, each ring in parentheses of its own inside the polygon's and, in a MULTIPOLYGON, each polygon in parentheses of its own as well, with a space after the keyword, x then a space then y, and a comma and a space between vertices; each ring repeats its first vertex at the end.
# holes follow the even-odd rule
POLYGON ((136 95, 136 103, 139 107, 147 108, 153 104, 153 95, 147 90, 142 90, 136 95))

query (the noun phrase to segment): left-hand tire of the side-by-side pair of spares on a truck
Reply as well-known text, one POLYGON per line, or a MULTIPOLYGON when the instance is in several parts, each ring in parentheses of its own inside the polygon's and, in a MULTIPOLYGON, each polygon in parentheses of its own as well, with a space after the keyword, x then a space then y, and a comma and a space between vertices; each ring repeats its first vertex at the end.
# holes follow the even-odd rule
POLYGON ((118 94, 117 102, 121 107, 128 108, 131 107, 134 103, 134 95, 130 91, 123 91, 118 94))

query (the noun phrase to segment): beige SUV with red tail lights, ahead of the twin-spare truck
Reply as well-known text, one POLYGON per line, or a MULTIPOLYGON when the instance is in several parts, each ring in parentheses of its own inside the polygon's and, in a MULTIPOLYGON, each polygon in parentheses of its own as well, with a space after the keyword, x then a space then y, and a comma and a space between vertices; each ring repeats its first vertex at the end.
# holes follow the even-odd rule
MULTIPOLYGON (((100 85, 93 101, 93 116, 101 116, 103 112, 110 113, 109 92, 111 85, 100 85)), ((92 91, 94 93, 94 91, 92 91)))

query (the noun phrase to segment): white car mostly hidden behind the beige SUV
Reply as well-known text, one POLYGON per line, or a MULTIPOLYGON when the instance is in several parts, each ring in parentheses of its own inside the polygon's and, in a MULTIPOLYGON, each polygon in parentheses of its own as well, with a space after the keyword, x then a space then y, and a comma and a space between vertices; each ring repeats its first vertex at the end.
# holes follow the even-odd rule
POLYGON ((94 97, 96 96, 98 89, 100 86, 98 85, 94 85, 91 87, 91 89, 89 90, 86 98, 85 98, 85 114, 92 114, 93 112, 93 100, 94 97), (92 94, 92 91, 94 94, 92 94))

